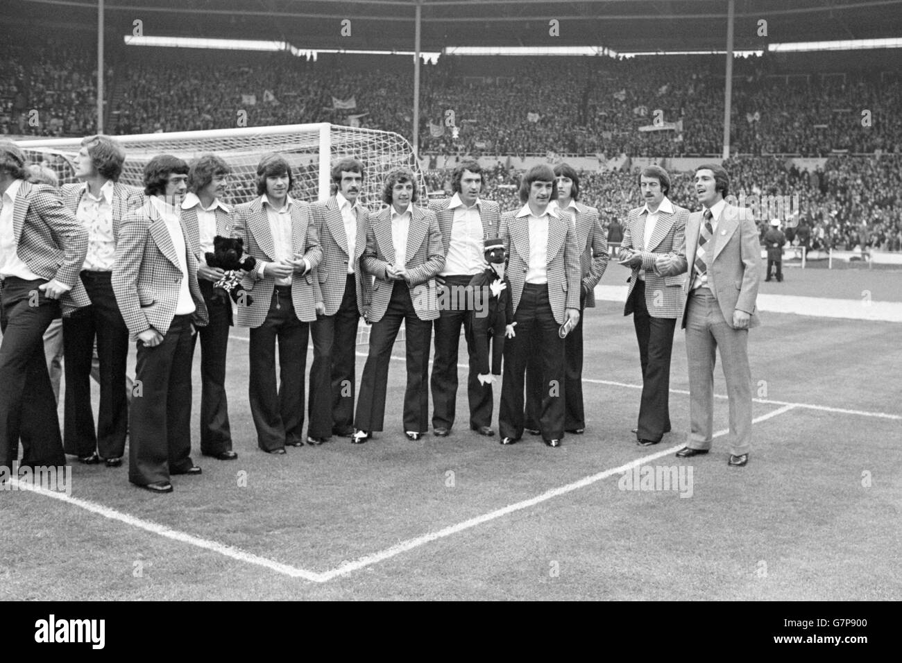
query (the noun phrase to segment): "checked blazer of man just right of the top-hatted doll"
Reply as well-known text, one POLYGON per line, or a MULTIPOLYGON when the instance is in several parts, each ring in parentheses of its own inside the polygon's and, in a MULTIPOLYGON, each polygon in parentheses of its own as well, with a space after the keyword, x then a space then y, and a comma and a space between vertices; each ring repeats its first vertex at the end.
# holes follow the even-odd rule
MULTIPOLYGON (((502 214, 499 236, 508 254, 508 268, 505 275, 511 281, 514 317, 520 306, 520 297, 526 283, 529 268, 529 218, 517 216, 520 211, 502 214)), ((548 303, 557 323, 564 324, 564 309, 579 309, 580 268, 579 246, 576 231, 570 222, 557 215, 557 210, 548 213, 548 303)))

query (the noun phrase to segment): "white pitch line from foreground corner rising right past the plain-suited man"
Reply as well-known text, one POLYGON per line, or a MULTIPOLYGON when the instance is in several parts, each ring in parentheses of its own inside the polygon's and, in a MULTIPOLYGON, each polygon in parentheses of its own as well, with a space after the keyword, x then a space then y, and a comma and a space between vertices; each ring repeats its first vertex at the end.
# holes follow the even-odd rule
MULTIPOLYGON (((772 410, 767 414, 762 414, 760 417, 752 419, 752 423, 756 424, 759 421, 764 421, 766 419, 772 419, 773 417, 777 417, 778 415, 783 414, 784 412, 788 412, 789 410, 794 410, 795 405, 787 404, 782 408, 778 408, 778 410, 772 410)), ((713 434, 712 437, 723 437, 727 433, 729 433, 729 428, 724 428, 723 430, 718 430, 713 434)), ((401 553, 407 552, 408 550, 412 550, 413 548, 419 548, 419 546, 423 546, 431 541, 435 541, 437 539, 443 539, 445 537, 449 537, 452 534, 456 534, 458 532, 464 531, 465 529, 470 529, 475 527, 476 525, 482 525, 484 522, 488 522, 489 520, 495 520, 501 518, 502 516, 506 516, 509 513, 513 513, 514 511, 521 511, 523 509, 528 509, 531 506, 535 506, 536 504, 540 504, 541 502, 547 502, 552 497, 557 497, 558 495, 564 495, 566 493, 572 493, 579 488, 584 488, 587 485, 592 485, 593 483, 597 483, 602 479, 606 479, 613 474, 622 474, 624 472, 630 471, 633 467, 638 465, 644 465, 649 463, 650 461, 656 460, 662 456, 668 456, 670 454, 676 453, 681 448, 685 447, 685 444, 678 444, 675 447, 670 447, 667 449, 662 449, 655 454, 650 454, 649 456, 642 456, 640 458, 636 458, 635 460, 630 461, 625 465, 621 465, 620 467, 614 467, 611 470, 604 470, 603 472, 599 472, 598 474, 592 474, 590 476, 586 476, 579 481, 575 481, 573 483, 567 483, 566 485, 560 486, 559 488, 552 488, 545 493, 537 495, 536 497, 530 498, 529 500, 523 500, 522 502, 515 502, 513 504, 509 504, 506 507, 502 507, 502 509, 497 509, 495 511, 491 511, 490 513, 485 513, 482 516, 476 516, 475 518, 471 518, 470 520, 464 520, 463 522, 459 522, 456 525, 451 525, 450 527, 446 527, 444 529, 438 529, 434 532, 429 532, 428 534, 424 534, 422 536, 417 537, 416 539, 408 539, 406 541, 401 541, 400 543, 391 546, 391 548, 385 548, 384 550, 373 553, 373 555, 366 555, 364 557, 360 557, 359 559, 355 559, 353 562, 347 562, 341 566, 338 566, 331 571, 325 571, 320 574, 324 578, 324 580, 331 580, 337 576, 345 576, 346 574, 351 573, 352 571, 358 571, 365 566, 372 566, 373 564, 378 564, 379 562, 383 562, 386 559, 391 557, 395 557, 400 555, 401 553)))

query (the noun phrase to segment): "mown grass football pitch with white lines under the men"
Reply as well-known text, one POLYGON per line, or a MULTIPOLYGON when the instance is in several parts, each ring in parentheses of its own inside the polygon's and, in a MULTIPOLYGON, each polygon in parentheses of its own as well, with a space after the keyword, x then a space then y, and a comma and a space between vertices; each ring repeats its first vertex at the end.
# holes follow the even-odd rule
MULTIPOLYGON (((761 292, 900 299, 902 272, 850 272, 787 270, 786 283, 762 282, 761 292), (850 279, 864 285, 843 285, 850 279)), ((625 274, 612 265, 603 285, 625 274)), ((720 362, 712 452, 674 456, 689 428, 678 325, 673 432, 637 447, 631 318, 603 300, 584 320, 587 426, 563 447, 528 434, 502 447, 469 431, 462 339, 450 437, 404 437, 399 343, 386 430, 361 446, 333 437, 286 456, 256 447, 247 330, 235 328, 227 389, 238 460, 199 454, 196 358, 193 458, 203 474, 153 495, 128 483, 127 466, 75 463, 70 497, 0 494, 0 599, 902 598, 899 323, 764 312, 750 332, 750 462, 732 468, 720 362), (640 482, 649 472, 680 481, 640 482)), ((358 379, 363 365, 358 356, 358 379)), ((500 392, 496 384, 496 430, 500 392)))

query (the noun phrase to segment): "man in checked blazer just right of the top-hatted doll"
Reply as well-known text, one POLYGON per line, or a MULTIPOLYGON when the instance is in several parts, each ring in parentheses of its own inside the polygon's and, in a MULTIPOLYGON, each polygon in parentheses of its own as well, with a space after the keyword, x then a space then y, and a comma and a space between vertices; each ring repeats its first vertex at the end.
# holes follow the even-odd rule
POLYGON ((539 432, 560 447, 565 426, 565 347, 561 331, 579 322, 581 292, 576 230, 557 207, 557 181, 549 166, 534 166, 520 184, 520 210, 502 214, 499 235, 509 256, 514 321, 504 344, 499 428, 502 445, 523 435, 523 377, 529 356, 542 357, 539 432), (515 327, 515 328, 514 328, 515 327))

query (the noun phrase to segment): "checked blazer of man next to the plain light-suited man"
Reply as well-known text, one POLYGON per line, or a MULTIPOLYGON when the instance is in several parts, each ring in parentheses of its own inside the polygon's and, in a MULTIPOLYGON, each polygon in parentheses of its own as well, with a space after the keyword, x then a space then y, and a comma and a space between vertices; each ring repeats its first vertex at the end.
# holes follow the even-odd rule
POLYGON ((658 222, 655 230, 649 237, 649 245, 645 245, 645 206, 630 209, 623 224, 623 239, 621 247, 638 251, 642 256, 642 263, 632 268, 626 292, 626 306, 623 315, 628 316, 633 312, 630 306, 630 294, 636 287, 640 270, 645 272, 645 306, 652 318, 679 318, 683 312, 683 282, 685 275, 660 276, 655 272, 655 261, 660 255, 678 254, 681 251, 686 238, 686 221, 689 218, 689 210, 683 207, 674 207, 674 213, 668 214, 664 210, 658 210, 658 222))

